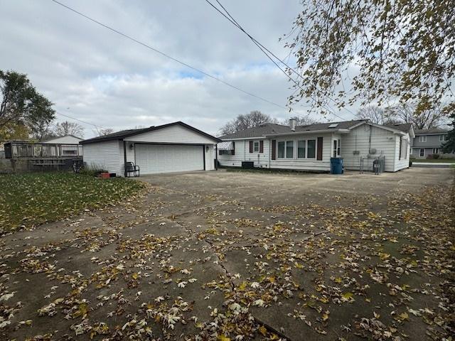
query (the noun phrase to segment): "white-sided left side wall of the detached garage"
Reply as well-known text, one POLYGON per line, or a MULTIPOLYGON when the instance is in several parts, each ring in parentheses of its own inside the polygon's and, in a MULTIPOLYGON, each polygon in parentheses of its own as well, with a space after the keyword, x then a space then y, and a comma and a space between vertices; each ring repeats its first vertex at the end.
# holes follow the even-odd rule
POLYGON ((123 163, 123 146, 119 149, 119 141, 102 141, 94 144, 84 144, 84 162, 87 167, 103 168, 109 173, 123 175, 121 163, 123 163), (122 156, 122 159, 120 159, 122 156))

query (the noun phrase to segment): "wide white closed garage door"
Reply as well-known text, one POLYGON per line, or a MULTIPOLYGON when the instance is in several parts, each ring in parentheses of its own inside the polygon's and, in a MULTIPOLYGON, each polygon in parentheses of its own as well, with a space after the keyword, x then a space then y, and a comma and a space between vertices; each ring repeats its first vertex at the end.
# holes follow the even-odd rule
POLYGON ((204 169, 203 146, 137 144, 136 164, 141 174, 200 171, 204 169))

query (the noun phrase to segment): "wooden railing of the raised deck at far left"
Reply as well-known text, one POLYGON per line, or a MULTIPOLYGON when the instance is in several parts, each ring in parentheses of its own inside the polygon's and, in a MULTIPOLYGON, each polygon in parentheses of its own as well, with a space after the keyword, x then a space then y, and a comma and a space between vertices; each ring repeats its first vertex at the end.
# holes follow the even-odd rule
POLYGON ((79 144, 9 142, 4 148, 5 158, 82 158, 82 146, 79 144))

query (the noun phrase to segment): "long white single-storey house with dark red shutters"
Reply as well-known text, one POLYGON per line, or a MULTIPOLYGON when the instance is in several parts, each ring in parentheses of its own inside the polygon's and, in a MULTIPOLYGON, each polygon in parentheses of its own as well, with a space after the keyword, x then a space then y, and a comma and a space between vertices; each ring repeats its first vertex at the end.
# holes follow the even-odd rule
POLYGON ((385 171, 409 167, 410 124, 382 126, 368 120, 339 121, 296 126, 263 124, 221 136, 220 166, 330 171, 331 157, 343 158, 344 167, 373 170, 373 161, 384 161, 385 171))

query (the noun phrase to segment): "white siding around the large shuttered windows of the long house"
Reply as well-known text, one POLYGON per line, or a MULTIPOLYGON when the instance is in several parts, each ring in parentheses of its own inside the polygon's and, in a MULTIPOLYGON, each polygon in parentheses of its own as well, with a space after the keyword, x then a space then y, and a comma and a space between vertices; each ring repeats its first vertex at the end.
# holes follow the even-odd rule
POLYGON ((294 158, 288 159, 278 158, 277 152, 277 160, 270 161, 270 168, 281 168, 281 169, 296 169, 299 171, 330 171, 330 157, 331 157, 331 144, 332 144, 332 136, 331 134, 302 134, 302 135, 294 135, 294 136, 280 136, 277 138, 277 148, 278 148, 278 141, 294 141, 294 158), (316 156, 318 151, 317 146, 317 139, 318 137, 322 137, 322 160, 316 159, 301 159, 297 158, 297 143, 296 141, 299 140, 308 140, 314 139, 316 140, 316 156))

